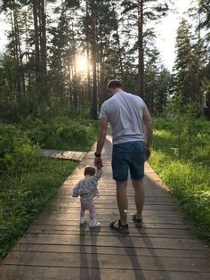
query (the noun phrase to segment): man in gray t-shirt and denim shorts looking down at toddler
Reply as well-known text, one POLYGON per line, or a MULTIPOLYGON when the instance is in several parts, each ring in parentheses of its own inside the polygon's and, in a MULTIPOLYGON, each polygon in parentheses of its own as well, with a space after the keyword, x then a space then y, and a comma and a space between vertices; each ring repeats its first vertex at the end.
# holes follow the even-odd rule
POLYGON ((117 184, 117 205, 120 219, 111 222, 110 227, 122 234, 128 234, 127 225, 127 179, 130 169, 135 192, 135 226, 142 226, 144 203, 144 161, 149 160, 152 137, 152 119, 141 97, 125 93, 118 80, 108 84, 109 100, 101 105, 100 135, 95 152, 95 166, 101 168, 101 151, 107 136, 108 122, 112 128, 113 153, 112 171, 117 184), (145 128, 143 128, 145 127, 145 128))

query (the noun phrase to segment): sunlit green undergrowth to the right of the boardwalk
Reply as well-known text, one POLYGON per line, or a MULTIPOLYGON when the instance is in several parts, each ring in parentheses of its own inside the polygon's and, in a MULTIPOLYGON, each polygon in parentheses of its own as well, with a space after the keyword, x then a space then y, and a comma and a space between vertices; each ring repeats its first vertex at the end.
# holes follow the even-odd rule
POLYGON ((192 148, 179 141, 173 119, 156 119, 151 166, 170 187, 199 236, 210 241, 210 125, 196 120, 192 148))

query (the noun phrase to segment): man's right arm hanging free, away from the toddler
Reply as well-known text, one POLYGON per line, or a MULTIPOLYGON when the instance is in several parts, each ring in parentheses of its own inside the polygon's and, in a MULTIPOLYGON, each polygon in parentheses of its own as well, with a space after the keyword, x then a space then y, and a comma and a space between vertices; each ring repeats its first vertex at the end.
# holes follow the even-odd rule
POLYGON ((153 124, 152 119, 149 113, 149 110, 147 107, 143 110, 143 123, 145 126, 145 148, 146 148, 146 161, 149 160, 151 151, 150 151, 150 145, 151 145, 151 139, 152 139, 152 132, 153 132, 153 124))

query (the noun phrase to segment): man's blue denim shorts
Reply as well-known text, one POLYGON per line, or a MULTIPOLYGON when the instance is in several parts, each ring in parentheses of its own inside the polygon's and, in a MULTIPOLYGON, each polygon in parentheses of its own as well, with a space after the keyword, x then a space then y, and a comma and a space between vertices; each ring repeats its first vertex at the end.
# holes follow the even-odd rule
POLYGON ((113 145, 112 171, 113 179, 125 182, 128 178, 128 169, 131 177, 141 180, 144 177, 145 144, 143 141, 125 142, 113 145))

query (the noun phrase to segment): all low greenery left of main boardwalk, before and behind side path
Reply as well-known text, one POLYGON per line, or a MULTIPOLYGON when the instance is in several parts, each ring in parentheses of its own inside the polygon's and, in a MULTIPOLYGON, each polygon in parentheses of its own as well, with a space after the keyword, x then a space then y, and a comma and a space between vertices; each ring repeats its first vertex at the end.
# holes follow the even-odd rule
POLYGON ((85 151, 98 131, 97 122, 67 117, 48 123, 28 118, 19 127, 0 123, 0 259, 77 166, 40 156, 35 144, 85 151))

